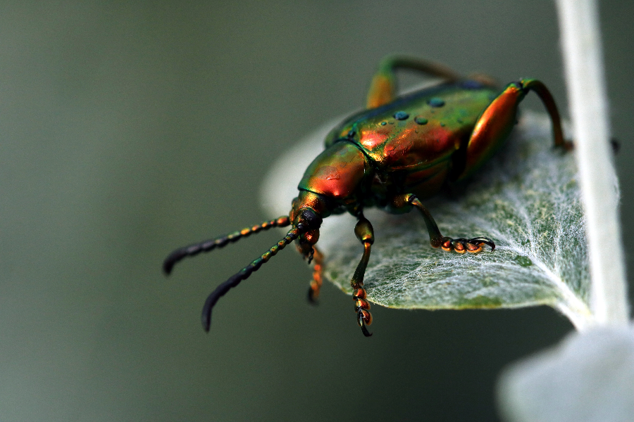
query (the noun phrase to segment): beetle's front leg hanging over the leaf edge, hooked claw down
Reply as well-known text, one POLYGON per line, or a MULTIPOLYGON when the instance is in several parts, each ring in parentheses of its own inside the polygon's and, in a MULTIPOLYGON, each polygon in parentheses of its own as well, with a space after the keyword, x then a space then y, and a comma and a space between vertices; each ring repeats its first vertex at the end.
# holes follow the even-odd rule
POLYGON ((359 218, 359 222, 354 227, 354 234, 356 238, 363 243, 363 256, 359 265, 356 266, 350 285, 354 289, 352 298, 354 299, 354 312, 356 312, 356 322, 361 327, 363 335, 370 337, 372 333, 368 331, 367 326, 372 324, 372 314, 370 304, 366 300, 366 290, 363 288, 363 276, 366 274, 366 267, 368 267, 368 261, 370 260, 370 249, 372 243, 374 243, 374 229, 372 224, 363 216, 359 218))

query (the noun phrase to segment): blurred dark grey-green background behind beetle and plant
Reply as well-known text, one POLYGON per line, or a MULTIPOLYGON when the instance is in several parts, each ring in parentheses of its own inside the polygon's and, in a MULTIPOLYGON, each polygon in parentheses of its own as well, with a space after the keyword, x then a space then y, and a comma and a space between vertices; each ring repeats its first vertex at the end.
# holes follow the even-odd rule
MULTIPOLYGON (((634 4, 601 15, 629 244, 634 4)), ((373 307, 367 339, 334 287, 306 303, 289 251, 206 335, 206 295, 279 236, 160 267, 277 217, 271 162, 363 106, 387 53, 540 78, 567 115, 558 37, 548 0, 0 4, 0 420, 497 420, 502 367, 571 330, 552 309, 373 307)))

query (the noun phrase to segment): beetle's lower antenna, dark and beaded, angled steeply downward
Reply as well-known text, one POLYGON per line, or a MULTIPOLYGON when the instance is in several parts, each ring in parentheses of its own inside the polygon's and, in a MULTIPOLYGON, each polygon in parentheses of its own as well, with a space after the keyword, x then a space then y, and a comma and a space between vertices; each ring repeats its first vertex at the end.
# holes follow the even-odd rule
POLYGON ((218 302, 220 298, 222 298, 232 287, 240 284, 240 281, 249 278, 253 271, 257 271, 262 266, 262 264, 268 262, 268 260, 270 260, 273 255, 277 254, 278 251, 284 249, 286 245, 297 239, 297 237, 300 234, 304 233, 304 231, 306 231, 307 229, 308 228, 306 227, 306 225, 302 223, 297 224, 297 227, 291 229, 286 234, 286 236, 284 236, 282 240, 278 243, 275 243, 275 245, 273 245, 271 249, 264 252, 260 257, 257 257, 254 261, 251 262, 251 264, 247 265, 247 267, 244 267, 236 274, 233 274, 227 281, 220 284, 220 286, 218 286, 216 290, 213 290, 213 292, 211 292, 211 295, 207 297, 205 305, 203 306, 201 321, 204 330, 209 333, 209 326, 211 325, 211 309, 213 309, 213 307, 216 305, 216 302, 218 302))

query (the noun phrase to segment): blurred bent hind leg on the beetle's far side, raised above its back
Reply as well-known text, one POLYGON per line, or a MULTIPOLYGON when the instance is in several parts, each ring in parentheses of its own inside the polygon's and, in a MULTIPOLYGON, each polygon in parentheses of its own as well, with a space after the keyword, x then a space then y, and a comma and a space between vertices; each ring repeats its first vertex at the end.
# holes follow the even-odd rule
POLYGON ((449 81, 460 79, 458 72, 441 63, 421 60, 409 56, 387 56, 381 60, 368 91, 367 108, 376 108, 391 103, 396 96, 397 69, 418 70, 432 77, 440 77, 449 81))

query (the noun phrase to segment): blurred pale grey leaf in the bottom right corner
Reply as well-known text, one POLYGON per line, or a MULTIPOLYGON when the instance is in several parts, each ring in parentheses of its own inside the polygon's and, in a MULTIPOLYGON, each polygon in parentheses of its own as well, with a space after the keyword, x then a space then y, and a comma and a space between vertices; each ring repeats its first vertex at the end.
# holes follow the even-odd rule
POLYGON ((633 377, 633 327, 597 326, 506 368, 498 402, 513 422, 628 422, 633 377))

